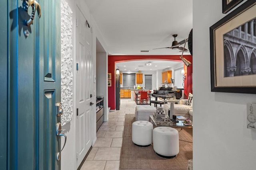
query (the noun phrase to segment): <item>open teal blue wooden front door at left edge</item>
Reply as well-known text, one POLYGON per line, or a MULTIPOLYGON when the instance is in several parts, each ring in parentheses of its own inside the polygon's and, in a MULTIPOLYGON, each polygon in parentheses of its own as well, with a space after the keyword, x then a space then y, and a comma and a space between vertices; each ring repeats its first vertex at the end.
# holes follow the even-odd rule
POLYGON ((37 10, 30 26, 26 20, 33 6, 26 11, 27 3, 0 2, 4 8, 0 11, 4 18, 0 169, 58 170, 56 124, 60 117, 55 104, 60 102, 60 0, 38 0, 41 18, 37 10))

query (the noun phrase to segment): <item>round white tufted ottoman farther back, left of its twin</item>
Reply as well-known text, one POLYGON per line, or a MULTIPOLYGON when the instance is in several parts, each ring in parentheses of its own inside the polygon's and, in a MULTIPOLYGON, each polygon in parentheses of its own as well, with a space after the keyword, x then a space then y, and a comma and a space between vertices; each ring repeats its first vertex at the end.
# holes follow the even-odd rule
POLYGON ((132 142, 139 147, 148 147, 152 143, 153 124, 149 121, 132 123, 132 142))

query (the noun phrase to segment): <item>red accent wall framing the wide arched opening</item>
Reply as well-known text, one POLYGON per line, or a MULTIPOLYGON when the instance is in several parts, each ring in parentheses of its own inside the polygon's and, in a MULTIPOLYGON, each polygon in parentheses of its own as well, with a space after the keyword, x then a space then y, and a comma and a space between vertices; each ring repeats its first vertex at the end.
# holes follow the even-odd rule
MULTIPOLYGON (((188 61, 192 63, 191 55, 184 55, 188 61)), ((108 107, 111 110, 116 109, 116 63, 134 60, 166 60, 166 61, 181 61, 180 55, 109 55, 108 56, 108 73, 111 73, 111 84, 108 87, 108 107)), ((187 98, 189 93, 192 93, 192 66, 186 67, 184 64, 184 71, 186 75, 186 80, 184 80, 184 98, 187 98)))

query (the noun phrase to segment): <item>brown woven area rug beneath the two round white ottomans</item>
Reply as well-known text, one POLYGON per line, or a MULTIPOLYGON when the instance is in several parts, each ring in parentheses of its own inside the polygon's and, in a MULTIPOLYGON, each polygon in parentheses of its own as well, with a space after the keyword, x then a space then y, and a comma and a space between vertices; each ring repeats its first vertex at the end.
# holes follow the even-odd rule
POLYGON ((156 155, 153 144, 138 147, 132 142, 134 114, 126 114, 120 154, 120 170, 187 170, 188 160, 193 159, 192 128, 176 128, 179 131, 180 152, 173 159, 156 155))

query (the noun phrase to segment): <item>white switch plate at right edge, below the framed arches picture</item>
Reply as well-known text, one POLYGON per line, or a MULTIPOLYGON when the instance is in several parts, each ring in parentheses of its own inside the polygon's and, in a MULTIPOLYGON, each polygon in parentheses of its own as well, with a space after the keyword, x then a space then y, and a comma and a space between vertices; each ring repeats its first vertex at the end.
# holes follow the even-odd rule
POLYGON ((256 104, 247 104, 247 128, 256 130, 256 104))

